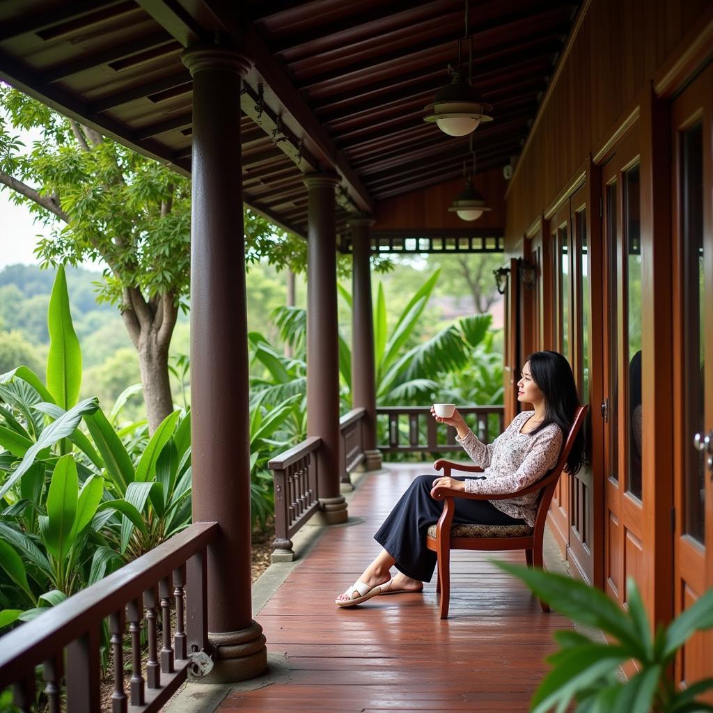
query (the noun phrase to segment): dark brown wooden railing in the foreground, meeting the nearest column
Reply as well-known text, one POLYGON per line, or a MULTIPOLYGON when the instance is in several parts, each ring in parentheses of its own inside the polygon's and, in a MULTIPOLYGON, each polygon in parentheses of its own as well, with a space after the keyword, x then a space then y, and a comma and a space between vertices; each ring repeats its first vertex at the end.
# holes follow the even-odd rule
POLYGON ((132 713, 160 710, 185 681, 188 668, 198 667, 193 655, 207 646, 206 548, 217 530, 216 523, 195 523, 6 634, 0 639, 0 691, 13 687, 14 704, 23 712, 36 710, 35 670, 41 666, 49 712, 100 710, 101 627, 108 619, 113 713, 125 713, 128 706, 132 713), (128 696, 123 680, 127 620, 132 660, 128 696), (140 647, 144 620, 148 633, 145 670, 140 647))

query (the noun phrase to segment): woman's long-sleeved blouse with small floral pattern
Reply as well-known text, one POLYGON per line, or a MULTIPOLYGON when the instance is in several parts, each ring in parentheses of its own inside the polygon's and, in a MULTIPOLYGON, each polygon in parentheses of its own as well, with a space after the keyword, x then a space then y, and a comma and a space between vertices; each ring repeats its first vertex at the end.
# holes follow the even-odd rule
MULTIPOLYGON (((464 438, 456 436, 473 462, 483 468, 480 479, 466 478, 466 493, 515 493, 536 483, 555 466, 563 444, 557 424, 550 424, 536 434, 520 433, 525 421, 534 413, 522 411, 515 416, 510 426, 488 446, 478 441, 473 431, 468 431, 464 438)), ((534 527, 538 494, 488 502, 511 518, 521 518, 534 527)))

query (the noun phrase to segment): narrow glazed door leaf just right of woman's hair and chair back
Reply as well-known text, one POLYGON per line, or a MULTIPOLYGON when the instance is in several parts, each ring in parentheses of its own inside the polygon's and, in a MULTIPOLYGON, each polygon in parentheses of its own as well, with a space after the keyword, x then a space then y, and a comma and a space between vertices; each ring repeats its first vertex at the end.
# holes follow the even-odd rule
MULTIPOLYGON (((581 404, 590 403, 590 344, 592 332, 592 295, 590 290, 590 236, 588 235, 589 185, 570 196, 569 263, 572 282, 570 307, 570 364, 575 374, 581 404)), ((591 409, 590 409, 591 411, 591 409)), ((591 417, 583 426, 587 463, 573 476, 568 476, 569 545, 571 571, 588 583, 594 580, 594 488, 591 460, 591 417)))

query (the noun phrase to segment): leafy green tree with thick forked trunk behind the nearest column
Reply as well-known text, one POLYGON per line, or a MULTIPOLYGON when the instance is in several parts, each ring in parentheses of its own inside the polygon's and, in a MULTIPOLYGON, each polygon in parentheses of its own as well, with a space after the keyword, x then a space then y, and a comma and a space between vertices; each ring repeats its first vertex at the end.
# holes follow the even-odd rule
MULTIPOLYGON (((46 105, 0 85, 0 188, 51 228, 44 266, 106 265, 99 299, 116 304, 138 352, 150 431, 173 411, 168 346, 187 307, 190 185, 186 178, 46 105), (15 130, 35 130, 27 149, 15 130)), ((245 214, 246 260, 304 269, 304 240, 245 214)))

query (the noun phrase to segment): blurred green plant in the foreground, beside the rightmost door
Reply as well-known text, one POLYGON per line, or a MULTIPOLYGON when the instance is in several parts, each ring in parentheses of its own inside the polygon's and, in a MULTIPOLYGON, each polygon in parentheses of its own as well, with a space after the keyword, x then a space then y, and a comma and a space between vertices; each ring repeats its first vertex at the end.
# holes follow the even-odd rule
POLYGON ((697 713, 713 711, 699 695, 713 689, 713 679, 679 689, 670 677, 674 658, 696 631, 713 628, 713 589, 651 635, 637 585, 627 580, 627 610, 593 587, 539 568, 497 562, 523 580, 538 597, 575 622, 597 627, 612 637, 611 645, 578 632, 555 632, 560 650, 548 657, 553 666, 531 702, 533 713, 561 713, 573 701, 578 713, 697 713), (620 665, 633 660, 637 672, 628 680, 620 665))

